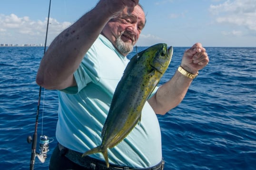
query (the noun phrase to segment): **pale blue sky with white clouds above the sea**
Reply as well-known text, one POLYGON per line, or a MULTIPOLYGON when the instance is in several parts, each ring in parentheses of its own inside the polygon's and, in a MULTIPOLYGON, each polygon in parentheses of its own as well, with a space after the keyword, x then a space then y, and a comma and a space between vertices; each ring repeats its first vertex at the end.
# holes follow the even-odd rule
MULTIPOLYGON (((49 0, 0 0, 0 44, 44 44, 49 0)), ((98 0, 51 0, 47 45, 98 0)), ((137 46, 256 47, 256 0, 140 0, 137 46)))

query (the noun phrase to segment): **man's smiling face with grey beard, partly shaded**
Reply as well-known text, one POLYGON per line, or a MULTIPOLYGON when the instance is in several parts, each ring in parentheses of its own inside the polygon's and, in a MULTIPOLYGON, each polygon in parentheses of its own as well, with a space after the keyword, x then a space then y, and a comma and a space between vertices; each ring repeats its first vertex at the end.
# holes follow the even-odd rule
POLYGON ((133 50, 145 22, 145 14, 137 5, 131 14, 128 14, 126 8, 117 18, 111 19, 102 33, 126 56, 133 50))

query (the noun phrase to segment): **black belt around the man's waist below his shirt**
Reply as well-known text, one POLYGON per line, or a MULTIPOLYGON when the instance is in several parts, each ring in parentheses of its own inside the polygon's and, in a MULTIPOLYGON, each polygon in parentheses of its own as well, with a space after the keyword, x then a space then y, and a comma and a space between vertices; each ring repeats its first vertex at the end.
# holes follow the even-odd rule
POLYGON ((165 162, 162 160, 154 167, 150 168, 129 168, 129 167, 122 167, 118 165, 111 165, 109 164, 109 168, 107 168, 106 163, 104 161, 100 161, 89 156, 82 157, 82 153, 70 150, 60 143, 58 144, 59 151, 64 152, 63 154, 74 163, 85 167, 90 170, 163 170, 165 162))

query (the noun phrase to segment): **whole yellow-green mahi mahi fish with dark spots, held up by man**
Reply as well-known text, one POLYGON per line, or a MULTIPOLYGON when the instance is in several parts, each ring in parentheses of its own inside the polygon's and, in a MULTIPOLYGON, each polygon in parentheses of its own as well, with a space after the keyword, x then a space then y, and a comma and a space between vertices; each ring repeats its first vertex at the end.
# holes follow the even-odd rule
POLYGON ((161 43, 131 58, 114 92, 101 132, 102 142, 82 157, 101 152, 109 167, 108 148, 121 142, 140 121, 142 108, 169 66, 172 54, 173 48, 161 43))

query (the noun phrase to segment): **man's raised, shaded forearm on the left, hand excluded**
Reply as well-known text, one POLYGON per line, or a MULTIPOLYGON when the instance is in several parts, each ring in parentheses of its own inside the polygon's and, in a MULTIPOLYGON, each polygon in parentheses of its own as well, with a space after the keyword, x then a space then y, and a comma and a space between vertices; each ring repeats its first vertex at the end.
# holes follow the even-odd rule
POLYGON ((48 89, 74 85, 73 73, 111 18, 103 8, 97 5, 53 40, 39 66, 39 85, 48 89))

